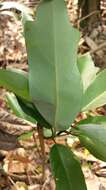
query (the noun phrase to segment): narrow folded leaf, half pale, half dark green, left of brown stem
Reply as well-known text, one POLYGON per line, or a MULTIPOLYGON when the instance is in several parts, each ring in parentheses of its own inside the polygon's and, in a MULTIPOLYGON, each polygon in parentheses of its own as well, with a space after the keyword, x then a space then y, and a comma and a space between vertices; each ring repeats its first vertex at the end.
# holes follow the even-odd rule
MULTIPOLYGON (((6 94, 7 102, 12 109, 12 111, 16 114, 17 117, 23 118, 31 123, 38 122, 40 126, 51 128, 51 126, 45 121, 45 119, 39 114, 35 106, 33 104, 16 97, 14 94, 7 93, 6 94)), ((49 132, 50 133, 50 132, 49 132)), ((26 136, 26 135, 25 135, 26 136)))

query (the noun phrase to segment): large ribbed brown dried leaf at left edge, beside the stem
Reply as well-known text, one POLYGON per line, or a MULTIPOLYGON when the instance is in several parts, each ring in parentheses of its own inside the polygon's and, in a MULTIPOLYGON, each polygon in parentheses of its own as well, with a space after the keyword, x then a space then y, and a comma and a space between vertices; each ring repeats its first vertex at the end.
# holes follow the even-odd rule
POLYGON ((0 149, 9 151, 21 147, 17 137, 31 131, 33 127, 32 123, 0 108, 0 149))

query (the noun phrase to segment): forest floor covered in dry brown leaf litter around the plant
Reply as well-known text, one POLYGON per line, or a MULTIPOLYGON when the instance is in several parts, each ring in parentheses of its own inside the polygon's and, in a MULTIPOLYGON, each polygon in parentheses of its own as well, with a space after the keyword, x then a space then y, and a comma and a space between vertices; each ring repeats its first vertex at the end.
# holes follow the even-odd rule
MULTIPOLYGON (((69 8, 71 20, 73 9, 69 8)), ((106 67, 106 25, 102 21, 82 34, 79 52, 91 52, 95 65, 106 67)), ((0 15, 0 67, 28 70, 22 26, 7 15, 0 15), (4 22, 5 20, 5 22, 4 22)), ((6 90, 0 88, 0 190, 54 190, 50 172, 49 150, 52 140, 45 139, 46 179, 42 184, 42 156, 36 131, 17 144, 15 137, 33 129, 33 125, 13 115, 5 101, 6 90)), ((105 107, 93 114, 106 115, 105 107)), ((81 116, 82 119, 84 115, 81 116)), ((59 137, 58 143, 68 144, 80 158, 88 190, 106 190, 106 163, 82 148, 77 138, 59 137)))

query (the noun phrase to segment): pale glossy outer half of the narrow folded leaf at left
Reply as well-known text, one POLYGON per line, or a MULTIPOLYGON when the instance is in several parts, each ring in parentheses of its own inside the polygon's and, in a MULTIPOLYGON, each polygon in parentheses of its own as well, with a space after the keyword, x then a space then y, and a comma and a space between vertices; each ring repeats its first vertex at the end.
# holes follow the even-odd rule
POLYGON ((34 117, 32 117, 31 114, 27 114, 23 111, 21 108, 16 96, 13 93, 7 93, 6 94, 7 103, 12 109, 12 111, 15 113, 17 117, 23 118, 27 121, 30 121, 31 123, 36 123, 36 120, 34 117))

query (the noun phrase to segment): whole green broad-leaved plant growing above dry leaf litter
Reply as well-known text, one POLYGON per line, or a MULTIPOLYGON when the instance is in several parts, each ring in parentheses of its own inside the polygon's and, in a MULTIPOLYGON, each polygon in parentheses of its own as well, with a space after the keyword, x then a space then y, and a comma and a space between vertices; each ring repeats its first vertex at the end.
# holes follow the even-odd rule
MULTIPOLYGON (((88 116, 70 127, 80 112, 106 104, 106 70, 100 72, 89 54, 77 55, 80 33, 69 22, 64 0, 42 0, 36 19, 18 3, 1 4, 1 11, 8 9, 22 14, 29 62, 28 73, 0 70, 0 86, 14 93, 7 95, 10 107, 17 116, 37 124, 41 148, 47 131, 56 141, 68 130, 95 157, 106 161, 106 116, 88 116)), ((54 143, 50 162, 56 190, 87 189, 80 162, 69 147, 54 143)))

